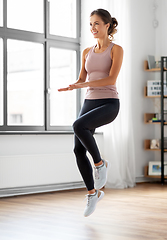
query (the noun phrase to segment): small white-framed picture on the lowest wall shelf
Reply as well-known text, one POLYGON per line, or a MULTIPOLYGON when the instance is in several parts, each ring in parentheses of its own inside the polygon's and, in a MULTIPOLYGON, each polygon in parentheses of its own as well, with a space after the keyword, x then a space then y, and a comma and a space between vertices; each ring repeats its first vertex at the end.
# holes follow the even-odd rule
MULTIPOLYGON (((161 176, 161 162, 151 161, 148 166, 149 176, 161 176)), ((164 162, 164 175, 167 175, 167 162, 164 162)))

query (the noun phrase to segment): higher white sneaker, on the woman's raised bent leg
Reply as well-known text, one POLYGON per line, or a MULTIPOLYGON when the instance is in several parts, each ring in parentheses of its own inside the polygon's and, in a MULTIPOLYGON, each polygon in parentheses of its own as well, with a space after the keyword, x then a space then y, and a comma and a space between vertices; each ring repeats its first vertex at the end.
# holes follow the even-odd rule
POLYGON ((107 172, 110 167, 108 161, 103 161, 101 167, 95 167, 95 189, 101 189, 107 182, 107 172))

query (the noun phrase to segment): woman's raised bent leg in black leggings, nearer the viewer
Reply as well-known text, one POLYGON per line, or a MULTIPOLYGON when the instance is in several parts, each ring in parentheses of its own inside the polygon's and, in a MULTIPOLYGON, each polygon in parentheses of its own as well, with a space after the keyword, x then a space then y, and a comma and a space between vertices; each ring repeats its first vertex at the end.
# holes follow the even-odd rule
POLYGON ((81 115, 73 124, 75 135, 91 154, 94 163, 101 161, 100 152, 92 130, 112 122, 119 112, 118 99, 87 100, 92 109, 81 115), (94 108, 93 108, 94 106, 94 108))

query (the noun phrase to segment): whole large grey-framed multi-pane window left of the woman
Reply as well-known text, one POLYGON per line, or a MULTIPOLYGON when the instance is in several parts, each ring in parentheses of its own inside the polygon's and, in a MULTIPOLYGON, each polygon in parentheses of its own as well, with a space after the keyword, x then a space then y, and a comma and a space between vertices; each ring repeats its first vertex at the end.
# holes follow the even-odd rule
POLYGON ((79 74, 80 4, 0 0, 0 133, 72 130, 80 91, 57 89, 79 74))

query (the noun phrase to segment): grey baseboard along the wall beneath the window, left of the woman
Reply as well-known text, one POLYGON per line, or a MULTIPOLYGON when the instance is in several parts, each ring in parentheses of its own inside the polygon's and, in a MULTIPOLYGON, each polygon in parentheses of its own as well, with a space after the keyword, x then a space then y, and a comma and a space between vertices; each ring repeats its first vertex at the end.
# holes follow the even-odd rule
POLYGON ((34 194, 34 193, 45 193, 45 192, 55 192, 55 191, 61 191, 61 190, 80 189, 80 188, 85 188, 85 184, 82 181, 73 182, 73 183, 41 185, 41 186, 5 188, 5 189, 0 189, 0 198, 17 196, 17 195, 34 194))

